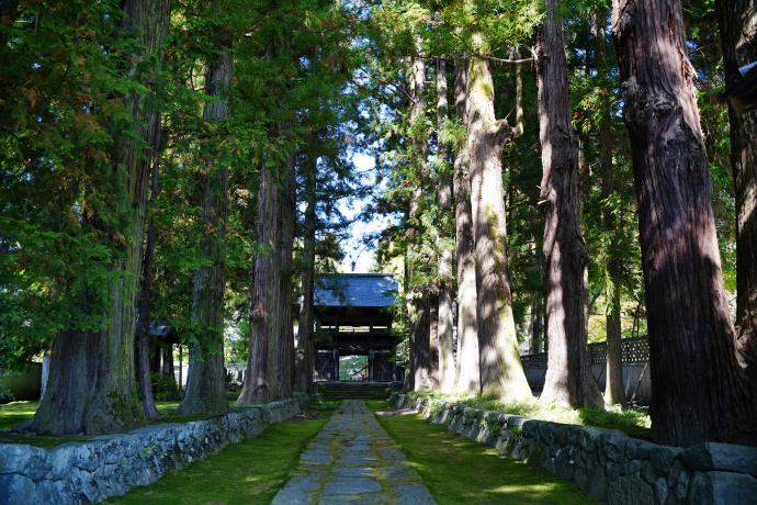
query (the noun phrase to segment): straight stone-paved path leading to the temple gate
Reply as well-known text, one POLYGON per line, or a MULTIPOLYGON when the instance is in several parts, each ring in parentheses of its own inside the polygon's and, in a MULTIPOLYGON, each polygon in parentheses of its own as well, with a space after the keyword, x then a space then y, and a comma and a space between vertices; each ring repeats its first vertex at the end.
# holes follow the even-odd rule
POLYGON ((436 504, 365 402, 341 403, 271 505, 436 504))

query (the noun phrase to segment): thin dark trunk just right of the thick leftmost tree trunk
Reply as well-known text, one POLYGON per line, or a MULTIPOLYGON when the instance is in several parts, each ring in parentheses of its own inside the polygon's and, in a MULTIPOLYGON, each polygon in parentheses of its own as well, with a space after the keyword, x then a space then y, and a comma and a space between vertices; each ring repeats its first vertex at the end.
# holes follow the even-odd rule
MULTIPOLYGON (((158 123, 160 117, 158 116, 158 123)), ((158 199, 158 169, 160 168, 160 124, 155 139, 152 157, 152 187, 150 203, 158 199)), ((142 386, 142 409, 148 419, 157 419, 160 413, 152 397, 152 379, 150 378, 150 295, 152 291, 152 268, 155 265, 155 222, 150 218, 147 226, 147 240, 142 266, 142 295, 139 312, 139 385, 142 386)))

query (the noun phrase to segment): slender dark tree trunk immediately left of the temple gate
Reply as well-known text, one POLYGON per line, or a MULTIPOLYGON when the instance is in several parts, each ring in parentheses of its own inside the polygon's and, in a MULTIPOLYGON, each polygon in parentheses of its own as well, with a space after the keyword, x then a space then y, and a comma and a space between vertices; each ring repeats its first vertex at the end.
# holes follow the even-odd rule
POLYGON ((303 272, 302 301, 300 303, 300 335, 297 338, 297 354, 295 357, 295 391, 315 393, 313 382, 313 367, 315 360, 313 326, 314 307, 313 292, 315 282, 315 232, 316 232, 316 179, 318 175, 317 157, 314 152, 307 160, 307 177, 305 178, 305 209, 304 239, 303 239, 303 272))

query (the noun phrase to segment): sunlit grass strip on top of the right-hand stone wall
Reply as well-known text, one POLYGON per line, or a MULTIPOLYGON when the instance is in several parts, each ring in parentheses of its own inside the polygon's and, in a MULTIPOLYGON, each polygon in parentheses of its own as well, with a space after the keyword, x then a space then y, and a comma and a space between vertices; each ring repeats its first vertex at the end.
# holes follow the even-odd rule
POLYGON ((479 396, 450 396, 437 390, 407 393, 413 397, 438 400, 440 402, 456 403, 486 411, 505 412, 532 419, 551 420, 555 423, 594 426, 596 428, 620 429, 626 434, 645 438, 648 436, 652 422, 649 414, 640 408, 621 408, 610 405, 607 408, 580 407, 570 408, 553 402, 541 402, 538 399, 521 402, 502 402, 498 400, 483 400, 479 396))

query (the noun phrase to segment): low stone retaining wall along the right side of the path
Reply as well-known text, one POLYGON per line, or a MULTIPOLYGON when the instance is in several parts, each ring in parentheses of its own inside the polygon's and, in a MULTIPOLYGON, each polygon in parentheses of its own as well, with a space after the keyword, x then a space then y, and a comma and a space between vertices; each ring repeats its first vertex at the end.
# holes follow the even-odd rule
POLYGON ((754 504, 757 448, 664 447, 622 431, 565 425, 393 395, 434 424, 574 482, 610 505, 754 504))

